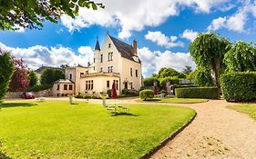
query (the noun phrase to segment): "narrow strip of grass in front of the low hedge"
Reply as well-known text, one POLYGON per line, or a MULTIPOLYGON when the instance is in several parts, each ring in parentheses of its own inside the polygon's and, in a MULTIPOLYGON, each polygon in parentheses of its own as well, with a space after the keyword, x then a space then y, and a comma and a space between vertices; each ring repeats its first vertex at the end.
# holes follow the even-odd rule
POLYGON ((173 103, 173 104, 196 104, 207 102, 207 99, 195 99, 195 98, 172 98, 172 97, 163 97, 163 98, 151 98, 147 101, 137 99, 136 102, 159 102, 159 103, 173 103))

